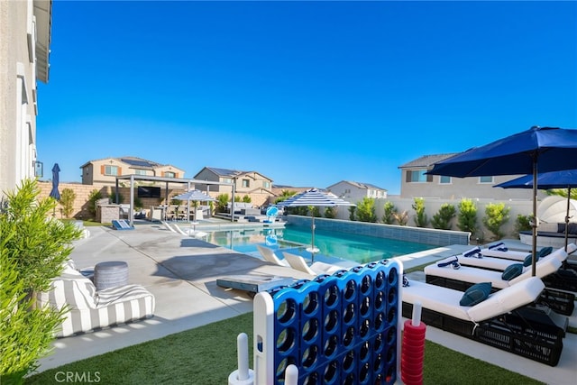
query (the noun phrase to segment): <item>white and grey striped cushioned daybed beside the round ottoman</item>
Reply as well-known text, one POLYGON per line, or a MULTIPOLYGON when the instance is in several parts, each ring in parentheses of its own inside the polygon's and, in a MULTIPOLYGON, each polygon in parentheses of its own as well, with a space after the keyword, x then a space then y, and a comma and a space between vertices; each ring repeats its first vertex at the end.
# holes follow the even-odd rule
POLYGON ((52 280, 50 291, 37 298, 40 306, 69 306, 57 337, 86 333, 106 326, 150 318, 155 301, 141 285, 125 285, 96 291, 91 280, 67 263, 59 278, 52 280))

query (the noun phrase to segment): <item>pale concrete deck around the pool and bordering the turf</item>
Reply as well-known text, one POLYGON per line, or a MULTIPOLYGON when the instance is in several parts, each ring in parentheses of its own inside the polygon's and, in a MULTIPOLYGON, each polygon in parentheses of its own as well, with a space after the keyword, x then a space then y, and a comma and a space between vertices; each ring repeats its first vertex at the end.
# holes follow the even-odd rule
MULTIPOLYGON (((160 224, 137 224, 135 230, 127 231, 107 227, 88 227, 88 230, 90 236, 78 241, 70 255, 78 268, 101 261, 126 261, 130 269, 129 283, 142 284, 154 294, 155 316, 96 333, 58 339, 53 344, 53 352, 41 359, 38 371, 252 312, 252 298, 241 290, 218 287, 215 283, 218 278, 236 274, 311 278, 297 270, 171 233, 160 224)), ((408 269, 470 247, 441 247, 400 259, 408 269)), ((577 375, 574 363, 577 362, 577 335, 568 334, 563 339, 561 360, 554 368, 434 327, 427 328, 426 338, 548 384, 573 384, 577 375)))

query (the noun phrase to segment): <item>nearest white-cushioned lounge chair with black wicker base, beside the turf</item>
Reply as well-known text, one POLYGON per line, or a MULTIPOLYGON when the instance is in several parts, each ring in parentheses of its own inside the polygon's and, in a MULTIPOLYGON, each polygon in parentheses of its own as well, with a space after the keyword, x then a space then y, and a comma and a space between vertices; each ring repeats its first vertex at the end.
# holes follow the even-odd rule
POLYGON ((401 290, 402 315, 411 318, 418 301, 426 325, 555 366, 563 351, 563 331, 546 322, 548 308, 530 306, 544 288, 531 277, 465 307, 459 305, 463 291, 411 280, 401 290))

